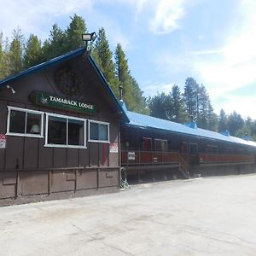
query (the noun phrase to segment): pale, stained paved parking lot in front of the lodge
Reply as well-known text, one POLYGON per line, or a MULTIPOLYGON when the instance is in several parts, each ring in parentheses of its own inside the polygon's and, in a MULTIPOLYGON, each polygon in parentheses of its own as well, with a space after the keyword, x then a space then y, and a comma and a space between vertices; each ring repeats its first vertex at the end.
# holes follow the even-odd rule
POLYGON ((0 255, 256 255, 256 175, 2 207, 0 255))

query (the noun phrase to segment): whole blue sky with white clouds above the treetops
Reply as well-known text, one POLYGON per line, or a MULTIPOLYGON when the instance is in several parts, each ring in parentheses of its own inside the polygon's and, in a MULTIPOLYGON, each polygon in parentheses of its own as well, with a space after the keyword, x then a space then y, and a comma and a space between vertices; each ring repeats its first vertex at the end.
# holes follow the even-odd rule
POLYGON ((122 44, 145 96, 204 84, 216 113, 224 108, 256 119, 255 0, 0 0, 0 31, 19 26, 47 38, 74 13, 90 32, 103 26, 114 50, 122 44))

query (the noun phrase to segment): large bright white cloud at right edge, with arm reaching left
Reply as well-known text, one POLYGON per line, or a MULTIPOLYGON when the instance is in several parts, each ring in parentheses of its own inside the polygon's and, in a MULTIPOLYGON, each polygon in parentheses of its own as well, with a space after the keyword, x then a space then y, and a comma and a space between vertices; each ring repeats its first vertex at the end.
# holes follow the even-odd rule
POLYGON ((207 86, 213 107, 218 111, 241 113, 256 118, 256 91, 247 91, 248 84, 256 84, 256 2, 244 0, 236 9, 236 19, 219 38, 223 42, 216 49, 199 49, 181 53, 162 52, 157 65, 162 72, 187 73, 207 86), (239 20, 236 21, 236 20, 239 20), (248 96, 236 96, 244 88, 248 96), (219 96, 226 96, 221 103, 219 96), (233 97, 227 97, 233 96, 233 97), (221 105, 221 106, 218 106, 221 105))

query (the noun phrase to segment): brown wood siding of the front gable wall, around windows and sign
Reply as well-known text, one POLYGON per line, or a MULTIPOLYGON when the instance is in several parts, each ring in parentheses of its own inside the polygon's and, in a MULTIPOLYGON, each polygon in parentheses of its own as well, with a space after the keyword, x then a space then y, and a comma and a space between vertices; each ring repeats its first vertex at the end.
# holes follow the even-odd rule
MULTIPOLYGON (((83 90, 77 96, 65 96, 55 86, 54 73, 60 65, 12 82, 10 85, 15 89, 15 94, 5 88, 0 91, 0 134, 7 132, 7 106, 10 106, 108 122, 110 143, 119 143, 120 116, 101 79, 89 62, 81 58, 68 61, 67 65, 75 68, 84 81, 83 90), (76 113, 38 107, 30 100, 33 90, 93 103, 97 111, 76 113)), ((43 138, 8 136, 7 148, 0 148, 0 199, 119 185, 119 154, 109 153, 109 143, 88 142, 88 121, 87 148, 54 148, 44 146, 45 120, 44 115, 43 138)))

